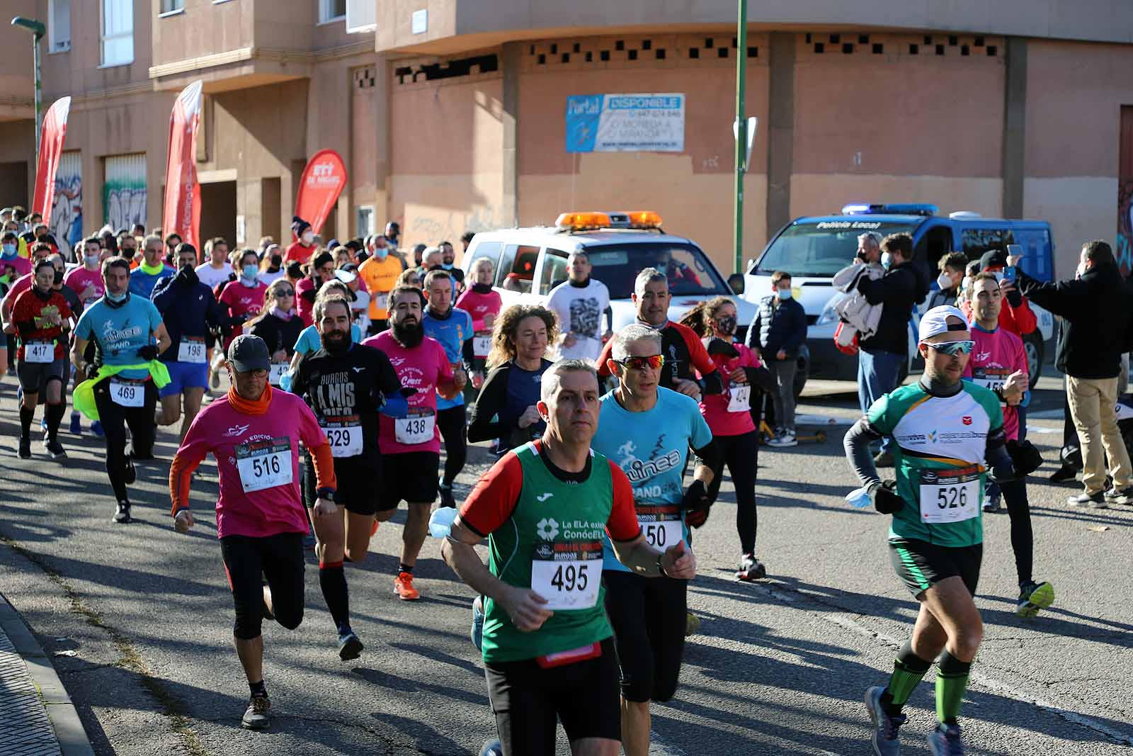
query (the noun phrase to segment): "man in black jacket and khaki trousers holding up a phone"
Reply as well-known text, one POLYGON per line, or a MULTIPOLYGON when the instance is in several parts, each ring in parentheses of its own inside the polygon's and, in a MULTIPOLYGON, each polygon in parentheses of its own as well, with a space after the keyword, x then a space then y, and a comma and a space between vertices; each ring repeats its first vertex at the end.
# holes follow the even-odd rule
MULTIPOLYGON (((1006 262, 1016 266, 1019 257, 1006 262)), ((1063 318, 1055 366, 1066 373, 1066 400, 1081 442, 1085 486, 1083 493, 1068 498, 1067 503, 1094 509, 1133 503, 1133 468, 1115 410, 1133 303, 1113 249, 1105 241, 1083 245, 1074 280, 1043 283, 1017 267, 1016 271, 1020 292, 1063 318), (1114 479, 1109 491, 1105 491, 1102 447, 1114 479)))

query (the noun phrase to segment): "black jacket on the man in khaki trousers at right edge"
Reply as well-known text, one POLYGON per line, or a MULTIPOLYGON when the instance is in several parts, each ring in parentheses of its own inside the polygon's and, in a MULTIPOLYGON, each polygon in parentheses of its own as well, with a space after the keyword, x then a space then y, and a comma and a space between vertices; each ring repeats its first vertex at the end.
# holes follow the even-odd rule
POLYGON ((1130 317, 1130 290, 1115 263, 1094 265, 1076 280, 1043 283, 1023 271, 1016 286, 1024 297, 1063 318, 1055 366, 1079 379, 1121 373, 1130 317))

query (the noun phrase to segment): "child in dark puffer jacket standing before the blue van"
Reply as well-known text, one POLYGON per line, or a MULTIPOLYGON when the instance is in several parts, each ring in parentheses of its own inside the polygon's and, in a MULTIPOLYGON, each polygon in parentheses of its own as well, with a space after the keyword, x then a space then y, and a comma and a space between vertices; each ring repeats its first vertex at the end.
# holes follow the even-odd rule
POLYGON ((748 347, 760 357, 775 377, 775 438, 772 447, 794 447, 794 374, 799 348, 807 340, 807 312, 791 295, 791 274, 772 273, 772 294, 759 300, 759 312, 748 329, 748 347))

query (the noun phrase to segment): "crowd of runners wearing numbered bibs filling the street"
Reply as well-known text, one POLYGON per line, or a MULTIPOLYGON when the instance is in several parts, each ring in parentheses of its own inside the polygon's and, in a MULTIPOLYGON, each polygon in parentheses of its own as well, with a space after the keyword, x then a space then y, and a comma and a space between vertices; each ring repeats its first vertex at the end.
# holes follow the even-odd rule
MULTIPOLYGON (((16 453, 33 458, 43 405, 44 453, 66 459, 70 389, 69 432, 83 433, 85 418, 86 432, 105 440, 108 515, 125 525, 135 465, 153 459, 157 426, 180 433, 171 515, 185 533, 194 511, 215 506, 250 688, 246 728, 271 717, 263 620, 289 629, 303 620, 305 541, 338 654, 356 659, 364 643, 350 623, 344 566, 366 558, 401 502, 392 591, 420 597, 414 568, 432 515, 444 560, 478 594, 471 636, 499 732, 485 754, 553 754, 557 723, 576 756, 649 751, 650 704, 675 695, 696 625, 687 608, 695 529, 725 466, 738 504, 736 577, 767 575, 756 549, 760 413, 784 381, 761 359, 758 337, 753 347, 736 342, 729 298, 672 322, 666 272, 645 269, 637 322, 613 332, 607 315, 581 333, 570 299, 608 306, 582 252, 548 306, 502 308, 489 260, 472 261, 466 279, 446 241, 399 252, 397 223, 324 245, 297 218, 287 248, 214 238, 202 250, 177 235, 108 228, 74 260, 22 209, 6 209, 0 224, 0 374, 11 365, 19 383, 16 453), (227 393, 213 396, 224 377, 227 393), (453 484, 469 441, 491 442, 499 459, 461 500, 453 484), (219 498, 190 502, 210 455, 219 498), (433 512, 437 499, 446 516, 433 512), (475 549, 485 541, 486 563, 475 549)), ((911 255, 902 239, 884 245, 898 264, 911 255)), ((790 275, 774 280, 763 317, 790 298, 790 275)), ((862 484, 847 500, 892 516, 893 566, 920 604, 889 681, 864 694, 880 755, 898 753, 902 707, 934 661, 929 745, 963 753, 957 717, 982 635, 973 602, 981 518, 997 492, 1011 516, 1017 613, 1054 602, 1050 584, 1031 574, 1024 481, 1041 459, 1020 440, 1026 365, 1019 338, 999 328, 1000 284, 990 272, 965 282, 970 315, 928 311, 923 376, 871 401, 845 436, 862 484), (894 479, 875 468, 870 447, 883 440, 894 479)), ((775 407, 791 421, 775 438, 787 445, 793 402, 784 410, 782 399, 775 407)))

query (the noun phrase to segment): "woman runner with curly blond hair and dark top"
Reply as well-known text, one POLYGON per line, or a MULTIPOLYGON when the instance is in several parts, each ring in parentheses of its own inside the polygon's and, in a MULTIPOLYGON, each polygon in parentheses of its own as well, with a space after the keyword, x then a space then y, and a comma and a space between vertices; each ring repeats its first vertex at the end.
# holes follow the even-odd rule
POLYGON ((551 367, 544 355, 555 340, 555 314, 538 305, 512 305, 492 330, 491 371, 472 405, 468 440, 499 439, 497 451, 518 449, 543 435, 539 382, 551 367))

